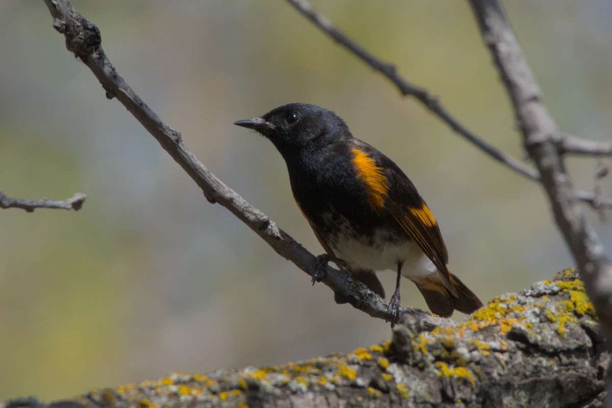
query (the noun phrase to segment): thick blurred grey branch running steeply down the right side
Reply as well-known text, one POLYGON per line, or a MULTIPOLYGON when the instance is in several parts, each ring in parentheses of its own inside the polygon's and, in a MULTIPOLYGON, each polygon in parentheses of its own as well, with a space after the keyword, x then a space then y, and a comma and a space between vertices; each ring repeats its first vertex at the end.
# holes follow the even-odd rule
MULTIPOLYGON (((540 90, 524 59, 510 25, 496 0, 470 0, 483 42, 493 56, 512 100, 524 145, 534 160, 548 194, 554 219, 578 263, 597 315, 608 351, 612 350, 612 263, 597 234, 578 205, 562 156, 556 148, 561 131, 541 100, 540 90)), ((610 387, 610 382, 608 382, 610 387)))

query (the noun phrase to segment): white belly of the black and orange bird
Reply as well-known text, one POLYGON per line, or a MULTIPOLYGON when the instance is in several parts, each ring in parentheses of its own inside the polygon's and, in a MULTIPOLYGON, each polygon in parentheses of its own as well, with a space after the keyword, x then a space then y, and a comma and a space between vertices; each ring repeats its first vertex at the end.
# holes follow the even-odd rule
POLYGON ((378 233, 371 240, 346 239, 346 235, 340 235, 337 242, 333 242, 332 249, 338 258, 356 269, 397 271, 397 264, 401 262, 401 274, 409 279, 438 273, 436 266, 414 241, 383 242, 381 235, 378 233))

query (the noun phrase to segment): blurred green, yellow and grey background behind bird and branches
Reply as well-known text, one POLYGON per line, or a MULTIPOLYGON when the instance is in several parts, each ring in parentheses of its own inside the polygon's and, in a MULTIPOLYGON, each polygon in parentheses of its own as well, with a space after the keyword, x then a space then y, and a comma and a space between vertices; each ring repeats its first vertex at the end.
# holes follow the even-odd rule
MULTIPOLYGON (((573 263, 539 186, 499 166, 283 1, 81 1, 119 74, 204 164, 313 253, 323 252, 272 145, 232 125, 289 102, 345 118, 438 217, 450 268, 483 300, 573 263)), ((426 87, 469 129, 521 158, 509 103, 468 5, 313 1, 426 87)), ((612 4, 512 1, 507 13, 565 131, 609 139, 612 4)), ((61 398, 160 377, 275 365, 390 337, 209 204, 92 73, 42 1, 0 2, 0 190, 84 192, 81 211, 0 211, 0 401, 61 398)), ((609 164, 604 161, 604 164, 609 164)), ((572 159, 594 186, 597 161, 572 159)), ((602 188, 610 193, 610 181, 602 188)), ((610 247, 609 226, 597 224, 610 247)), ((387 293, 394 274, 381 274, 387 293)), ((404 304, 425 307, 404 281, 404 304)), ((457 318, 463 318, 458 315, 457 318)))

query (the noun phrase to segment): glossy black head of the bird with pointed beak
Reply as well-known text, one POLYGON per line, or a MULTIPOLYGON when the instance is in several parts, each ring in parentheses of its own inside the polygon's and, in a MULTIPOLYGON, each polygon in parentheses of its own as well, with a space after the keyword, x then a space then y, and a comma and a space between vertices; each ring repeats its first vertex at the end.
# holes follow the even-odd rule
POLYGON ((262 117, 239 120, 234 125, 263 134, 283 156, 290 151, 351 137, 348 126, 338 115, 307 103, 279 106, 262 117))

